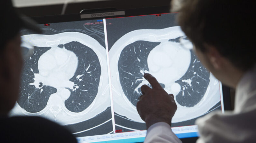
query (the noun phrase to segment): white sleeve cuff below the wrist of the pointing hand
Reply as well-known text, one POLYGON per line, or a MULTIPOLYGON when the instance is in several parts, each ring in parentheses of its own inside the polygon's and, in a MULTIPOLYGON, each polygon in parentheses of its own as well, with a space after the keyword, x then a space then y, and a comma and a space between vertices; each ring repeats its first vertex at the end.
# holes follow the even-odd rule
POLYGON ((147 130, 144 143, 182 143, 173 133, 169 124, 158 122, 151 125, 147 130))

